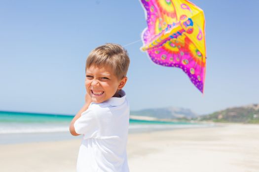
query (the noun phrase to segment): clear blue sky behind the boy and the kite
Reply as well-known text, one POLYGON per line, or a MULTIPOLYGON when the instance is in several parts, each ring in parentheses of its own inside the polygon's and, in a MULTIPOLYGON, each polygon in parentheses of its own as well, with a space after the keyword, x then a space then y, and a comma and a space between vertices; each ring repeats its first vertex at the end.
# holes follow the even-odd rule
MULTIPOLYGON (((126 46, 131 110, 189 108, 208 114, 259 103, 259 0, 192 0, 206 18, 204 95, 178 68, 151 62, 142 42, 126 46)), ((1 0, 0 110, 76 114, 89 52, 127 45, 147 27, 139 0, 1 0)))

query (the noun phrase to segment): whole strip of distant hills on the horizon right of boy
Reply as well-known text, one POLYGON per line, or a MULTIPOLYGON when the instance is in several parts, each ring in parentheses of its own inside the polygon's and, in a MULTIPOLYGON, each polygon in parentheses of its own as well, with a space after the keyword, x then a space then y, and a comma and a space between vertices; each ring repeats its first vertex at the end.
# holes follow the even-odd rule
POLYGON ((184 108, 158 108, 140 111, 131 111, 130 115, 150 116, 159 120, 178 121, 213 121, 213 122, 236 122, 259 124, 259 104, 242 107, 227 108, 209 115, 196 115, 189 109, 184 108))

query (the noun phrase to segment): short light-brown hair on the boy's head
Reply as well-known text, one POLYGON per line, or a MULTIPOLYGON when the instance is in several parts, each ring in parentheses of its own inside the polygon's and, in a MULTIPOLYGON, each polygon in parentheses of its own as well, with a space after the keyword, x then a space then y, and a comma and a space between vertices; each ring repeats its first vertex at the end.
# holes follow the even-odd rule
POLYGON ((107 43, 90 52, 86 60, 85 71, 90 66, 108 66, 118 79, 126 76, 130 59, 127 50, 118 44, 107 43))

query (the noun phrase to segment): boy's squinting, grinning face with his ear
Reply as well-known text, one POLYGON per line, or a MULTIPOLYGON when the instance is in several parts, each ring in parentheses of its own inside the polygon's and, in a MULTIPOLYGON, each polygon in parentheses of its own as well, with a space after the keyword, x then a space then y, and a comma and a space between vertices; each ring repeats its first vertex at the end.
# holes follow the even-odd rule
POLYGON ((96 67, 86 69, 85 88, 91 100, 102 103, 113 96, 126 84, 127 78, 118 80, 110 67, 96 67))

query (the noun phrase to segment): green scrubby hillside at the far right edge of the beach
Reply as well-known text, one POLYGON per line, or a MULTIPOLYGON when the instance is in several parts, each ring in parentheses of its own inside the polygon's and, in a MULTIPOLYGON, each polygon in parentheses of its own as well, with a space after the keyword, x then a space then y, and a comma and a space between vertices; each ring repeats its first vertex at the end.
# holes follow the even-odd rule
POLYGON ((197 120, 214 122, 259 123, 259 104, 227 108, 210 115, 199 116, 197 120))

